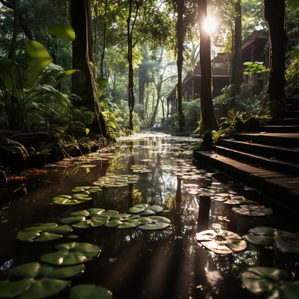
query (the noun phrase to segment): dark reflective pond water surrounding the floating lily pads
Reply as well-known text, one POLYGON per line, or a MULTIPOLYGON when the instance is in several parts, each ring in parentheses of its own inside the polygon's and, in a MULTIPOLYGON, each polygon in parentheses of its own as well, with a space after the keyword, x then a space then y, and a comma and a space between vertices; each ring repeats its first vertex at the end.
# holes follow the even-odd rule
MULTIPOLYGON (((196 233, 208 229, 224 229, 240 236, 257 226, 298 231, 298 218, 292 211, 212 169, 193 164, 190 144, 196 141, 162 133, 136 134, 120 138, 115 146, 98 153, 65 159, 48 165, 45 171, 10 181, 1 194, 1 280, 11 279, 10 269, 39 262, 43 254, 55 251, 56 245, 68 242, 88 242, 100 248, 100 254, 85 263, 84 273, 73 278, 72 285, 104 286, 115 299, 254 298, 240 280, 242 272, 251 266, 283 269, 298 280, 298 255, 262 250, 249 243, 245 250, 217 254, 195 240, 196 233), (150 171, 132 172, 138 171, 136 166, 131 168, 133 165, 146 165, 150 171), (79 205, 53 203, 55 196, 72 195, 75 187, 93 186, 107 173, 140 178, 134 184, 102 187, 103 191, 91 193, 91 201, 79 205), (22 188, 13 192, 20 183, 25 183, 27 194, 22 188), (271 208, 273 214, 241 216, 231 210, 231 205, 202 197, 199 200, 199 194, 188 192, 194 188, 237 193, 271 208), (105 225, 73 227, 62 238, 49 242, 16 239, 17 233, 30 225, 60 223, 76 211, 101 208, 127 213, 139 204, 161 206, 163 211, 158 215, 170 219, 171 225, 158 231, 105 225), (70 239, 67 235, 78 237, 70 239)), ((69 298, 68 292, 66 288, 51 298, 69 298)))

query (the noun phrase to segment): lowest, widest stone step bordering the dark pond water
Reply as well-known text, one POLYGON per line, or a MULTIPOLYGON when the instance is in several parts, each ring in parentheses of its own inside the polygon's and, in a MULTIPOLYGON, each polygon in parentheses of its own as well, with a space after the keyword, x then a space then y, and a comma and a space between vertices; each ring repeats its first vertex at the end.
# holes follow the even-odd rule
POLYGON ((218 153, 193 153, 193 160, 200 161, 248 186, 254 186, 265 196, 292 209, 298 209, 299 184, 297 177, 274 170, 260 169, 244 161, 228 158, 218 153))

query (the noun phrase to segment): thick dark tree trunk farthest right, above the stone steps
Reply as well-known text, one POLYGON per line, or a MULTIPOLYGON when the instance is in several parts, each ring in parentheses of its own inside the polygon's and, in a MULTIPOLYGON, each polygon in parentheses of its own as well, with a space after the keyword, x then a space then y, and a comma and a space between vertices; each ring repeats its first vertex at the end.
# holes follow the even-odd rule
POLYGON ((265 19, 270 33, 270 72, 267 94, 269 100, 280 102, 285 94, 285 58, 286 58, 286 30, 285 30, 285 1, 265 0, 265 19))

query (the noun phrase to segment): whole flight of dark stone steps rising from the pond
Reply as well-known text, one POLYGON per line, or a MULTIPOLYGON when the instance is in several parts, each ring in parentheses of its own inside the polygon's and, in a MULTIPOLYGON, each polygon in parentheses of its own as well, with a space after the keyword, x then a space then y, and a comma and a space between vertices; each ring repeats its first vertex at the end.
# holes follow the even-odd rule
POLYGON ((193 159, 298 210, 299 112, 293 115, 269 121, 260 132, 231 134, 193 159))

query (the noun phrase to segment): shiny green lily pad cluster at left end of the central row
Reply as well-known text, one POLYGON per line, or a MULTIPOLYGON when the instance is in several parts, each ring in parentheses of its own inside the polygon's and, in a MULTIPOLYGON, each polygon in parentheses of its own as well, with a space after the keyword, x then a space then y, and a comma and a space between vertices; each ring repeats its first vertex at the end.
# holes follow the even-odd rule
MULTIPOLYGON (((107 223, 110 213, 104 209, 87 209, 71 213, 71 217, 61 219, 63 224, 71 224, 77 228, 98 227, 107 223)), ((118 213, 117 211, 114 211, 118 213)))

